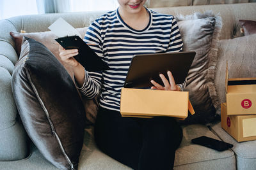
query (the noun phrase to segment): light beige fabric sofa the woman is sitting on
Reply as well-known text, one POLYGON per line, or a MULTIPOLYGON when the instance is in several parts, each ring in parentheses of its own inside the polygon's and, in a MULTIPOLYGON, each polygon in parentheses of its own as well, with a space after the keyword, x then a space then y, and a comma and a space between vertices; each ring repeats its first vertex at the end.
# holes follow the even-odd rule
MULTIPOLYGON (((218 101, 214 105, 220 114, 220 103, 225 102, 226 60, 232 78, 255 77, 256 36, 243 36, 239 20, 256 20, 256 3, 212 4, 205 6, 179 6, 154 8, 154 11, 172 15, 190 15, 211 10, 222 19, 218 38, 218 60, 214 72, 214 87, 218 101), (249 56, 247 56, 249 55, 249 56)), ((24 130, 12 94, 12 71, 19 59, 10 31, 43 32, 59 17, 74 27, 87 27, 106 11, 27 15, 0 20, 0 169, 56 169, 39 152, 24 130)), ((89 103, 90 104, 90 103, 89 103)), ((176 151, 174 169, 256 169, 256 141, 237 143, 221 129, 220 120, 207 124, 182 125, 183 139, 176 151), (218 152, 191 144, 191 139, 209 136, 234 145, 218 152)), ((131 169, 100 152, 93 139, 93 125, 84 129, 84 145, 78 169, 131 169)))

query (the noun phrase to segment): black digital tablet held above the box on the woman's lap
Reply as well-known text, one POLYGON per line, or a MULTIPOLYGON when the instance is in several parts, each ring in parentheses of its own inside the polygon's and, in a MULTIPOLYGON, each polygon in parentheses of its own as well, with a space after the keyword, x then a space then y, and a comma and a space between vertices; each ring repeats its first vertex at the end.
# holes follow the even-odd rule
POLYGON ((134 55, 124 87, 151 87, 150 80, 163 85, 159 74, 164 74, 168 79, 167 71, 172 72, 176 84, 184 83, 195 54, 195 52, 172 52, 134 55))

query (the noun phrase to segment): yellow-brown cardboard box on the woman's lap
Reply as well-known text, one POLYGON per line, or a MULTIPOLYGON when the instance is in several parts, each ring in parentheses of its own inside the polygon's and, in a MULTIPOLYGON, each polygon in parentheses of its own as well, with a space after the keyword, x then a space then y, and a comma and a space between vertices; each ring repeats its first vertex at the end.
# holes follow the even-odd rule
POLYGON ((188 92, 129 88, 121 90, 122 117, 186 118, 188 110, 195 113, 189 103, 188 92))

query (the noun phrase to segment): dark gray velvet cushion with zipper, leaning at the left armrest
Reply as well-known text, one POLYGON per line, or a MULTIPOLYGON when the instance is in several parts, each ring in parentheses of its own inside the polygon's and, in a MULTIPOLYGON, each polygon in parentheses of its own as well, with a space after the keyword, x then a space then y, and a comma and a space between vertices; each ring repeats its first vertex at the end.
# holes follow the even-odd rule
POLYGON ((26 37, 23 42, 13 71, 12 89, 24 127, 54 166, 77 168, 85 112, 76 86, 44 45, 26 37))

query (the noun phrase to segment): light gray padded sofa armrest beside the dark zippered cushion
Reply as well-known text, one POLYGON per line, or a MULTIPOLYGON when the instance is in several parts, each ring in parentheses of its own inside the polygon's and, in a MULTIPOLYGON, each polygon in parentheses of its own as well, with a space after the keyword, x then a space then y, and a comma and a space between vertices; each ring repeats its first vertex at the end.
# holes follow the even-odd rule
POLYGON ((8 20, 0 20, 0 160, 19 160, 28 155, 28 138, 12 96, 12 71, 18 60, 8 20))

